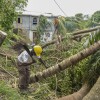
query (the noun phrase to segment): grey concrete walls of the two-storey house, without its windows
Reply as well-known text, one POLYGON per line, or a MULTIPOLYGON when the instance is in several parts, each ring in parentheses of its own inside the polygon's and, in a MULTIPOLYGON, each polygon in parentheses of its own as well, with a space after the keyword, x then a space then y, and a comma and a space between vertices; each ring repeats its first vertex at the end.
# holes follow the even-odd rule
MULTIPOLYGON (((31 41, 33 41, 33 32, 36 31, 37 25, 39 22, 39 16, 33 16, 33 15, 20 15, 18 18, 20 18, 21 23, 14 22, 15 28, 22 28, 27 30, 28 37, 31 41), (37 24, 33 24, 33 18, 37 18, 37 24)), ((48 42, 52 40, 52 35, 54 33, 54 24, 53 24, 54 17, 48 17, 48 21, 52 23, 52 26, 48 26, 45 30, 43 35, 41 35, 41 42, 48 42), (50 34, 50 35, 49 35, 50 34)))

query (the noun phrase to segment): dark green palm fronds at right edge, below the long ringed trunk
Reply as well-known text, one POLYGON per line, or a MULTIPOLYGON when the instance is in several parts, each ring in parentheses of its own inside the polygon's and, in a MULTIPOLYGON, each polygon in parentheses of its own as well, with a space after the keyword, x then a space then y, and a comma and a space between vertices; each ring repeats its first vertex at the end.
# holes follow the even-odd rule
POLYGON ((91 56, 84 66, 84 80, 92 86, 100 76, 100 50, 91 56))

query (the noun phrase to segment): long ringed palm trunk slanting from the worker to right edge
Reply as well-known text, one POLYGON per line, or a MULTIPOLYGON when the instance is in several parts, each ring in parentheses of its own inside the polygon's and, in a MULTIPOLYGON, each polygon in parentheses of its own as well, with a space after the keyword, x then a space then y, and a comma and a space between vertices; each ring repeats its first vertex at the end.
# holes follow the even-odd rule
POLYGON ((50 76, 56 74, 62 70, 65 70, 67 67, 69 67, 71 65, 75 65, 76 63, 78 63, 82 59, 90 56, 91 54, 95 53, 99 49, 100 49, 100 41, 98 41, 94 45, 91 45, 89 48, 86 48, 86 49, 82 50, 81 52, 63 60, 62 62, 44 70, 43 72, 36 73, 33 77, 30 78, 30 83, 38 82, 42 79, 45 79, 47 77, 50 77, 50 76))

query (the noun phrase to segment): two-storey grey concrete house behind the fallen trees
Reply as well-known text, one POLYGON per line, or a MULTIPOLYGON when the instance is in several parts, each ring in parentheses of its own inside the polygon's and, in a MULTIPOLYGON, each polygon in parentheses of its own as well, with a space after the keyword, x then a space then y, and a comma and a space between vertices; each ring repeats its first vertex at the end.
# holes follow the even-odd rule
MULTIPOLYGON (((33 42, 37 33, 37 26, 39 24, 39 16, 40 15, 32 15, 32 14, 22 14, 18 16, 17 21, 14 22, 14 28, 24 29, 27 31, 27 37, 33 42)), ((45 15, 44 15, 45 16, 45 15)), ((48 15, 46 16, 47 20, 52 23, 51 27, 46 27, 46 30, 43 35, 41 35, 41 42, 47 42, 52 40, 52 36, 54 33, 54 18, 57 16, 48 15)))

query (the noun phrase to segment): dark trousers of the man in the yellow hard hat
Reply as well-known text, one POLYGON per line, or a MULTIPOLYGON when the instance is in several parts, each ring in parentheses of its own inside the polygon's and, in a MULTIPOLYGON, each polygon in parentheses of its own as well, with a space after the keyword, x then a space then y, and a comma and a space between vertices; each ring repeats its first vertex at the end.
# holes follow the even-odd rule
POLYGON ((30 66, 21 66, 20 62, 17 62, 17 69, 19 72, 19 89, 27 89, 30 81, 30 66))

